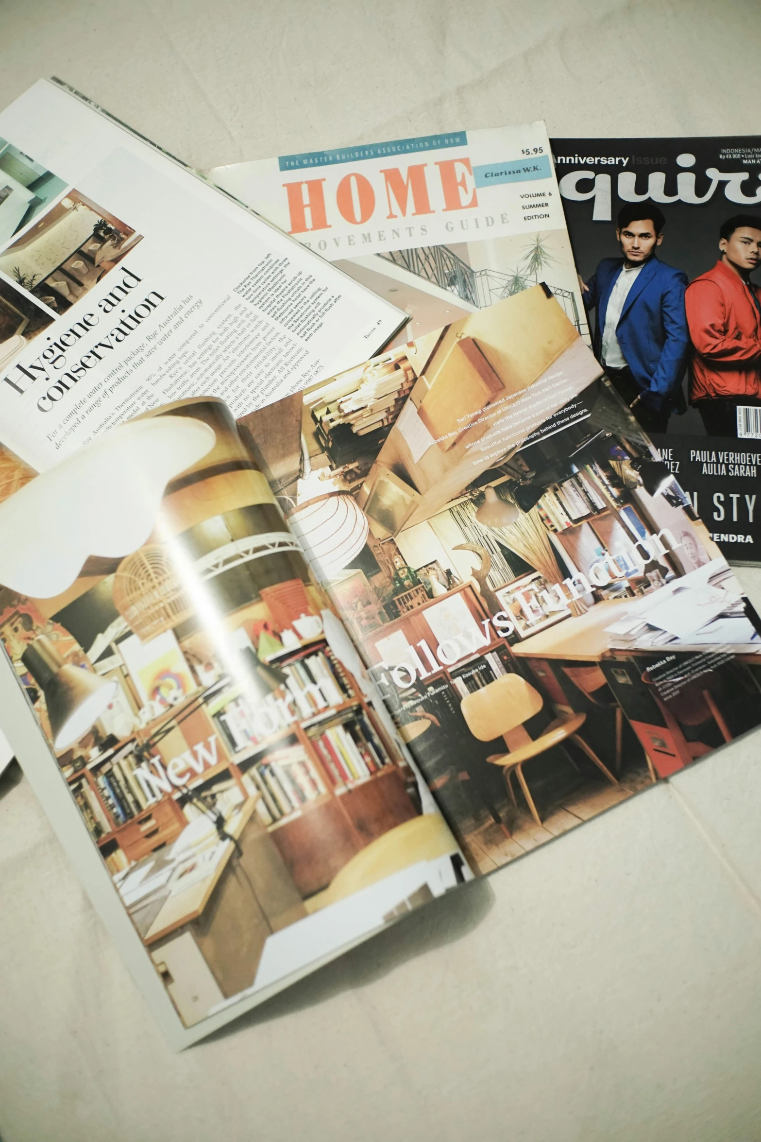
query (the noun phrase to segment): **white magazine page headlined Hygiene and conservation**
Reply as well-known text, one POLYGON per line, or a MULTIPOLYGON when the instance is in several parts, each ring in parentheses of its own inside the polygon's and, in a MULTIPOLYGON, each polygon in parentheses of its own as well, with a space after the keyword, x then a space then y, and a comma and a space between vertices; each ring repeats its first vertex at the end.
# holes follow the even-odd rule
POLYGON ((403 320, 71 91, 0 112, 0 439, 35 469, 168 401, 242 416, 403 320))

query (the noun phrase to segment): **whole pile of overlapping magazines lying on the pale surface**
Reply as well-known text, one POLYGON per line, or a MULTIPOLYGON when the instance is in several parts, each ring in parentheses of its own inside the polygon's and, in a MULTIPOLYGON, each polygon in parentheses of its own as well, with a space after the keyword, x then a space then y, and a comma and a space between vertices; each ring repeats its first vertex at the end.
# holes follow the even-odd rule
POLYGON ((0 136, 3 730, 172 1043, 761 721, 753 140, 0 136))

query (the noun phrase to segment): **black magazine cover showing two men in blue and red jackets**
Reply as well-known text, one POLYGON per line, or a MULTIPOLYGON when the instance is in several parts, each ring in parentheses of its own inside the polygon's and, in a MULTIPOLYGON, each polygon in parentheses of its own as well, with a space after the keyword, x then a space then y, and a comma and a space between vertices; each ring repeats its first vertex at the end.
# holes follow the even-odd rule
POLYGON ((552 151, 598 359, 727 558, 761 563, 761 139, 552 151))

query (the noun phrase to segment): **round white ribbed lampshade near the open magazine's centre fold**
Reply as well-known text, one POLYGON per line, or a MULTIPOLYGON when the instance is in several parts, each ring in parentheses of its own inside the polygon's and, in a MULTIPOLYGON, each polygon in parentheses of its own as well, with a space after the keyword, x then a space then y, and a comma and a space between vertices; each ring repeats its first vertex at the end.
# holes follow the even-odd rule
POLYGON ((288 522, 323 580, 335 578, 367 542, 367 516, 346 492, 300 504, 288 522))

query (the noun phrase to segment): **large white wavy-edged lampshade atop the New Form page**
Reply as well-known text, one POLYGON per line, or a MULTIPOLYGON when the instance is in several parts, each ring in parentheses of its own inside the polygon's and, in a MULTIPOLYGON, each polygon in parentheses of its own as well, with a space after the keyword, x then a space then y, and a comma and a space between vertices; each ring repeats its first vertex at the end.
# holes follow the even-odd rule
POLYGON ((59 595, 90 555, 121 558, 153 531, 164 488, 216 443, 191 417, 131 420, 0 504, 0 584, 59 595))

